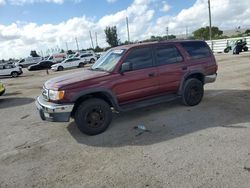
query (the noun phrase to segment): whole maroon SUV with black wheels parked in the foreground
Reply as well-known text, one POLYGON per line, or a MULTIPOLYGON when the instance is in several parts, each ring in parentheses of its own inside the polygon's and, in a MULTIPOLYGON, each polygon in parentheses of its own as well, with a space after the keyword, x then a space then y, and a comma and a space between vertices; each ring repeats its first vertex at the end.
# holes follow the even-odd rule
POLYGON ((164 41, 119 46, 89 69, 47 81, 36 106, 43 120, 75 119, 89 135, 105 131, 112 111, 181 97, 194 106, 214 82, 217 64, 204 41, 164 41))

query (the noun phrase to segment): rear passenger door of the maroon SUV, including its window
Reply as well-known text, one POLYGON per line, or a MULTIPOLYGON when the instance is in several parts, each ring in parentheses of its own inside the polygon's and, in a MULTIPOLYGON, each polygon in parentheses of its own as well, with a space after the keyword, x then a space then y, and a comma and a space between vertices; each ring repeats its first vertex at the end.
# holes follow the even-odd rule
POLYGON ((175 93, 187 72, 187 65, 174 44, 159 44, 154 47, 158 71, 159 92, 175 93))

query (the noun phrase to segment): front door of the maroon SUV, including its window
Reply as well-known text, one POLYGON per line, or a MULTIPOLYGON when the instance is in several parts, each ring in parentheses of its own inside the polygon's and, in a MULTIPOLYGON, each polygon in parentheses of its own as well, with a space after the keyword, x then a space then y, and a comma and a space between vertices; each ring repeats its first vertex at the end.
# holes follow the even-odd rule
POLYGON ((130 62, 132 68, 116 81, 113 91, 120 104, 153 96, 158 90, 157 71, 154 66, 152 48, 133 48, 123 63, 130 62))

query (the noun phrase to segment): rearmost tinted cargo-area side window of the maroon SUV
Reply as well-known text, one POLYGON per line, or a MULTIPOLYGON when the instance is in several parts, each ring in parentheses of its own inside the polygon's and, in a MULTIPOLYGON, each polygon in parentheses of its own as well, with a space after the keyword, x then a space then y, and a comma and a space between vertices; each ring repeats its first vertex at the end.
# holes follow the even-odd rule
POLYGON ((209 47, 205 44, 205 42, 183 42, 181 45, 193 59, 200 59, 210 56, 209 47))

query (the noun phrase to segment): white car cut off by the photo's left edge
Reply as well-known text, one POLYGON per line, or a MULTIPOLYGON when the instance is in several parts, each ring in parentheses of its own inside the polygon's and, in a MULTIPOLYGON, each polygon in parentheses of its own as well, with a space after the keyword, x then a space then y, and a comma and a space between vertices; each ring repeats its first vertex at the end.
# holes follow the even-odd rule
POLYGON ((22 68, 16 65, 0 65, 0 76, 18 77, 23 73, 22 68))

